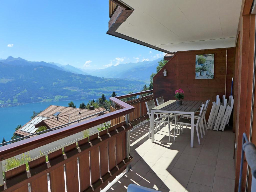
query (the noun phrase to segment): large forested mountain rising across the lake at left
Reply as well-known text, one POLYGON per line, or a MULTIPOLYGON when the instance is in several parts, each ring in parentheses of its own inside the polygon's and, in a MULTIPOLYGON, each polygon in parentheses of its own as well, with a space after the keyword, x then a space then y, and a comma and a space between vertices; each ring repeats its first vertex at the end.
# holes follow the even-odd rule
POLYGON ((0 104, 106 98, 138 92, 145 81, 76 74, 46 62, 8 57, 0 61, 0 104))

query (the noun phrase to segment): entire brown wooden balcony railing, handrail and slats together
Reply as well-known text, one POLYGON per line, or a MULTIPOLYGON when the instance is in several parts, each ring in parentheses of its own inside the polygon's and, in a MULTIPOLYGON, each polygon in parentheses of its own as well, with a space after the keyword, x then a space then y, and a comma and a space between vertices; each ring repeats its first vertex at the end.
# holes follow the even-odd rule
MULTIPOLYGON (((65 191, 65 180, 67 191, 79 191, 79 183, 80 191, 100 191, 132 161, 129 153, 129 130, 134 123, 143 118, 137 118, 137 112, 133 116, 130 114, 138 109, 136 105, 143 106, 142 101, 148 98, 142 97, 128 102, 119 99, 149 92, 152 90, 110 98, 120 108, 119 110, 0 147, 1 173, 1 161, 7 158, 126 116, 125 121, 123 119, 119 123, 114 122, 114 125, 108 129, 65 146, 64 152, 60 148, 48 153, 48 161, 45 155, 30 161, 29 170, 26 170, 26 164, 23 164, 6 171, 5 181, 1 173, 0 191, 28 191, 29 183, 31 191, 48 191, 47 174, 49 174, 51 191, 65 191), (132 118, 131 122, 129 116, 132 118)), ((142 108, 144 106, 140 107, 142 108)))

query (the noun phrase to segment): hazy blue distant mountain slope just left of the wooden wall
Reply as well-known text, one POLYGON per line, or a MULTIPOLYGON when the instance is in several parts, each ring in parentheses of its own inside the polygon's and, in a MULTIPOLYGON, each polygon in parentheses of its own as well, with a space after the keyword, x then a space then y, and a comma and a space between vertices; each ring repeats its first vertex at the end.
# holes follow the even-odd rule
POLYGON ((137 63, 122 63, 117 66, 111 66, 105 69, 90 71, 89 73, 97 77, 111 77, 122 79, 134 79, 149 81, 152 72, 156 71, 158 61, 162 58, 153 61, 143 61, 137 63))

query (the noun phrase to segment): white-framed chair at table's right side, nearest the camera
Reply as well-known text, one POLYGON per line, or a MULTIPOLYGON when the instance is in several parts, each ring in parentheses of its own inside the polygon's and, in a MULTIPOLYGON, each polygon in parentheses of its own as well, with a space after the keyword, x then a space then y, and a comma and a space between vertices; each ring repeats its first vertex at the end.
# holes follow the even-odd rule
MULTIPOLYGON (((201 121, 201 118, 202 118, 202 114, 203 114, 203 110, 204 110, 204 105, 206 104, 206 102, 204 104, 202 104, 202 107, 201 107, 201 110, 200 110, 200 113, 198 115, 198 118, 195 118, 195 122, 194 122, 194 127, 191 127, 191 129, 195 129, 196 127, 196 133, 197 133, 197 139, 198 139, 198 144, 200 145, 200 138, 199 138, 199 132, 198 132, 198 126, 201 130, 201 124, 200 124, 200 121, 201 121)), ((187 116, 187 115, 186 115, 187 116)), ((176 121, 176 125, 178 127, 178 124, 179 124, 179 134, 180 132, 183 133, 183 125, 190 125, 191 126, 191 119, 185 119, 185 118, 180 118, 179 120, 176 121), (181 125, 182 125, 182 128, 181 128, 181 125), (182 129, 182 130, 181 130, 182 129)), ((202 131, 201 131, 202 132, 202 131)), ((202 134, 202 133, 201 133, 202 134)), ((176 129, 174 131, 174 137, 176 136, 176 129)), ((202 136, 202 135, 201 135, 202 136)))

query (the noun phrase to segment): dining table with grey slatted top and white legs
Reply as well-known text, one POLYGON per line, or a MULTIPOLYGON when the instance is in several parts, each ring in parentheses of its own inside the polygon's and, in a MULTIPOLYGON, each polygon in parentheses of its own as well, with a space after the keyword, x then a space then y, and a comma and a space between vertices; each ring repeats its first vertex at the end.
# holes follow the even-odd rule
MULTIPOLYGON (((182 101, 182 105, 177 105, 176 100, 169 100, 161 105, 158 105, 151 109, 151 117, 154 117, 154 113, 177 113, 177 114, 186 114, 191 115, 191 135, 190 135, 190 147, 194 147, 194 122, 195 122, 195 113, 202 105, 202 101, 182 101)), ((176 118, 175 118, 176 125, 176 118)), ((155 141, 155 127, 154 127, 154 118, 150 122, 152 142, 155 141)), ((175 138, 174 138, 175 141, 175 138)))

